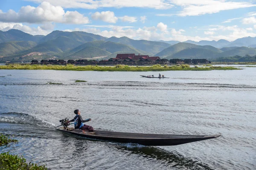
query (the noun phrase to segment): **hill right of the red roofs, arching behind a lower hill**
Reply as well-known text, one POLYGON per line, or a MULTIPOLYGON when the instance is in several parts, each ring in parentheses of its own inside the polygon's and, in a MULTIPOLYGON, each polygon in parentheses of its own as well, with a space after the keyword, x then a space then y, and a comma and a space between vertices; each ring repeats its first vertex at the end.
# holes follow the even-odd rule
POLYGON ((195 44, 186 43, 186 42, 179 42, 175 45, 172 45, 172 46, 164 49, 160 53, 155 54, 155 56, 170 58, 173 54, 175 54, 179 51, 182 51, 184 49, 187 49, 187 48, 193 48, 193 49, 194 48, 203 48, 203 49, 207 49, 209 51, 215 52, 215 53, 221 53, 222 52, 220 49, 212 47, 210 45, 201 46, 201 45, 195 45, 195 44))

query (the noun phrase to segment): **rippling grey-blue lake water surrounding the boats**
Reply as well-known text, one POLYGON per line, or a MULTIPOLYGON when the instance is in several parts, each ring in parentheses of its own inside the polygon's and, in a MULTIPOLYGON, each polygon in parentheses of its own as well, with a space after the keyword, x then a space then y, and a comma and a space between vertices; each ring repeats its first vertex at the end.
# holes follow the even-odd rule
POLYGON ((159 72, 0 70, 0 133, 19 141, 0 152, 52 170, 256 169, 256 68, 160 73, 170 78, 140 77, 159 72), (146 147, 55 130, 60 119, 73 119, 75 109, 95 129, 222 136, 146 147))

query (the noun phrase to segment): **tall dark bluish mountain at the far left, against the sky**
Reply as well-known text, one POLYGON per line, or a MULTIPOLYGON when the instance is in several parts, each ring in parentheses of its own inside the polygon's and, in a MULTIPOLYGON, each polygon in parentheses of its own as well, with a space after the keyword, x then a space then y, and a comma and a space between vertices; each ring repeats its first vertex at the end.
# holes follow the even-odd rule
POLYGON ((35 41, 38 42, 44 35, 30 35, 17 29, 0 31, 0 43, 10 41, 35 41))

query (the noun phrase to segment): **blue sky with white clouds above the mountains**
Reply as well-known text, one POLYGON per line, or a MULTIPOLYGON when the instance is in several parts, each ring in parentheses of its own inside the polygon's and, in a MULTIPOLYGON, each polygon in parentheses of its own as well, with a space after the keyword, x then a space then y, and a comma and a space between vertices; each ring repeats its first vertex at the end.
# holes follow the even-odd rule
POLYGON ((256 0, 0 0, 0 30, 85 31, 134 40, 256 37, 256 0))

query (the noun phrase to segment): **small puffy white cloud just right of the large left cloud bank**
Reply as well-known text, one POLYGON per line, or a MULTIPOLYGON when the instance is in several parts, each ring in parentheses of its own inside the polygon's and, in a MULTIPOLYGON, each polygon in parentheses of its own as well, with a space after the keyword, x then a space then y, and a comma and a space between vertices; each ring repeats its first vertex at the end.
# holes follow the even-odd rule
POLYGON ((102 20, 107 23, 116 23, 118 20, 117 17, 115 17, 115 14, 112 11, 102 11, 101 13, 95 12, 92 14, 93 20, 102 20))

